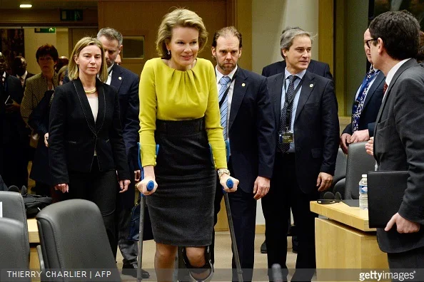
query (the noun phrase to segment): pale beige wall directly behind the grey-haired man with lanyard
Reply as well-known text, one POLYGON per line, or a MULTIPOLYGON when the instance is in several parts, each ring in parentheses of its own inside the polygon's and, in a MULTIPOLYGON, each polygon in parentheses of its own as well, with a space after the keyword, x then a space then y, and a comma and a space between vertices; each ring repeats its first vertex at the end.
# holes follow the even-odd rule
MULTIPOLYGON (((280 35, 286 26, 300 26, 318 33, 318 0, 252 0, 252 66, 261 73, 264 66, 281 61, 280 35)), ((243 52, 249 52, 243 50, 243 52)), ((318 36, 312 58, 318 60, 318 36)))

